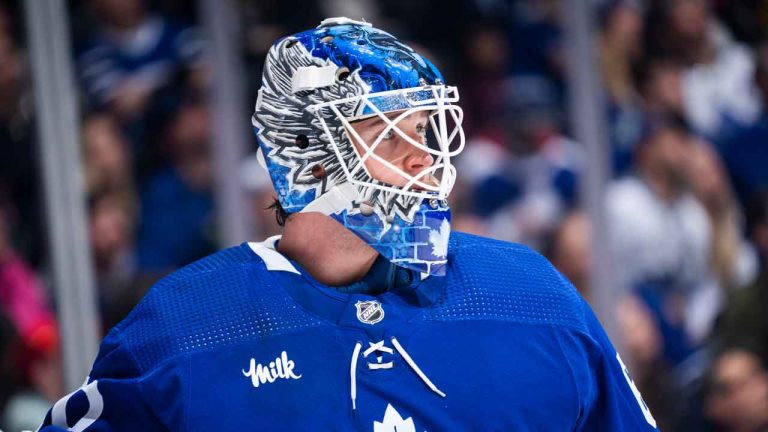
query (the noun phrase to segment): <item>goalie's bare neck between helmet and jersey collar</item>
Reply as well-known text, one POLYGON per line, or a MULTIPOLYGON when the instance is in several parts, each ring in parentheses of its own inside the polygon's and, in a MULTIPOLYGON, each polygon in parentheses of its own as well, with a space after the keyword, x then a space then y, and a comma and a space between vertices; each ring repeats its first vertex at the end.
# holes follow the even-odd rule
POLYGON ((349 285, 361 280, 378 253, 340 223, 320 213, 297 213, 277 245, 318 282, 349 285))

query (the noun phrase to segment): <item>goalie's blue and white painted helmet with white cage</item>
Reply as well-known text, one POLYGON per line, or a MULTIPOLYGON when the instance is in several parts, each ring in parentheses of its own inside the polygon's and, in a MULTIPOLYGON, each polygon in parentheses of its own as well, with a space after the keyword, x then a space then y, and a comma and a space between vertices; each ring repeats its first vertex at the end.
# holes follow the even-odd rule
POLYGON ((458 99, 432 63, 365 22, 327 19, 279 40, 267 55, 253 115, 277 199, 289 213, 333 217, 396 265, 444 274, 451 158, 464 147, 458 99), (417 140, 398 123, 420 111, 429 114, 431 131, 417 140), (383 130, 365 142, 352 124, 375 117, 383 130), (393 134, 434 162, 408 173, 376 154, 393 134), (368 160, 404 184, 373 178, 368 160))

